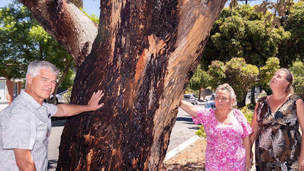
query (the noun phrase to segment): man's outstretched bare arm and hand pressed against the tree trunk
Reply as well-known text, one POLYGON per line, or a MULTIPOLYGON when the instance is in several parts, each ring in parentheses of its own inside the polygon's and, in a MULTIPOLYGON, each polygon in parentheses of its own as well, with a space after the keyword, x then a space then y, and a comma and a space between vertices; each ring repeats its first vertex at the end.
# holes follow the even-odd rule
POLYGON ((98 90, 98 92, 94 92, 88 105, 73 105, 73 104, 58 104, 57 112, 55 113, 55 117, 64 117, 64 116, 73 116, 82 112, 94 111, 101 108, 104 103, 98 105, 99 100, 102 98, 104 93, 98 90))

